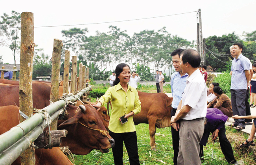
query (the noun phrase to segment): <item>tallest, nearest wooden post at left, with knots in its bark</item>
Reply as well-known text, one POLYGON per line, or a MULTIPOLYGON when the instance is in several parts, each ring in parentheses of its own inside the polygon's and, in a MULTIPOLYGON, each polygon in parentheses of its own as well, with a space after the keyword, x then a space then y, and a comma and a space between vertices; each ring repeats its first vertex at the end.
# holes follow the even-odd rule
MULTIPOLYGON (((20 38, 20 111, 30 117, 33 114, 32 72, 34 57, 34 14, 21 13, 20 38)), ((20 123, 26 120, 20 116, 20 123)), ((35 165, 35 149, 29 147, 20 155, 22 165, 35 165)))

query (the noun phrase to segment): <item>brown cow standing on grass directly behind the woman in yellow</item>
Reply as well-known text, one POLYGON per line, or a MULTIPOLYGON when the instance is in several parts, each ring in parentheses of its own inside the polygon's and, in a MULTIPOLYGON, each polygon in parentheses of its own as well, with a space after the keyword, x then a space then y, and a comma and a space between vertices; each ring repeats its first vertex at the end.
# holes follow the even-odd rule
POLYGON ((155 133, 157 128, 171 127, 172 97, 163 93, 148 94, 138 91, 141 102, 140 113, 133 116, 135 125, 145 123, 149 125, 150 146, 156 150, 155 133))

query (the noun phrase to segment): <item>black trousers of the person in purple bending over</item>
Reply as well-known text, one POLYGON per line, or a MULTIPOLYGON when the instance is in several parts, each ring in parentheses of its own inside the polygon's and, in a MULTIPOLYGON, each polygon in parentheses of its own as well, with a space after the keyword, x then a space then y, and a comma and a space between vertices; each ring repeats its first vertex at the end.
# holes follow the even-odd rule
MULTIPOLYGON (((236 159, 233 154, 232 146, 226 137, 226 128, 223 126, 221 130, 219 130, 219 144, 221 145, 221 151, 225 156, 225 159, 228 163, 234 164, 236 163, 236 159)), ((203 145, 200 144, 200 158, 204 156, 203 145)))

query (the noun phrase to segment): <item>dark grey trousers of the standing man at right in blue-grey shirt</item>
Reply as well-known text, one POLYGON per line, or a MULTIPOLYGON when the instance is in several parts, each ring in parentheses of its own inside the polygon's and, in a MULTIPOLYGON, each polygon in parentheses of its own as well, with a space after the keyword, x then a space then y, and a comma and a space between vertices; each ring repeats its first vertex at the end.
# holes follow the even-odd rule
MULTIPOLYGON (((231 90, 231 104, 233 115, 246 116, 245 97, 247 90, 231 90)), ((234 119, 234 126, 245 127, 245 119, 234 119)))

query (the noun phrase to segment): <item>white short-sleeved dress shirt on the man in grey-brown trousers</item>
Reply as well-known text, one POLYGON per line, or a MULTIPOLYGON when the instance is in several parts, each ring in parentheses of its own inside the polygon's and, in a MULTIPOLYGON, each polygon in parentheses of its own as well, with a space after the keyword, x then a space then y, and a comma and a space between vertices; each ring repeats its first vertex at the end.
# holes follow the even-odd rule
MULTIPOLYGON (((182 94, 182 106, 189 105, 190 112, 183 117, 184 120, 193 120, 206 116, 207 87, 199 69, 186 78, 186 87, 182 94)), ((180 110, 179 110, 180 111, 180 110)), ((179 113, 178 111, 178 113, 179 113)))

